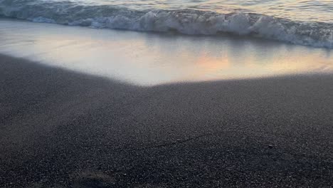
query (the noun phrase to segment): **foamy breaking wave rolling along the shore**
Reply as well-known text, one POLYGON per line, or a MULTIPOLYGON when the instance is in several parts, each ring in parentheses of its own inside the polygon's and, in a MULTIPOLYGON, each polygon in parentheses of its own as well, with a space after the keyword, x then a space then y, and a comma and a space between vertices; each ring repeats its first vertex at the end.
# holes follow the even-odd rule
POLYGON ((189 35, 234 33, 305 46, 333 48, 333 23, 293 21, 263 14, 133 10, 73 1, 0 0, 0 15, 35 22, 189 35))

